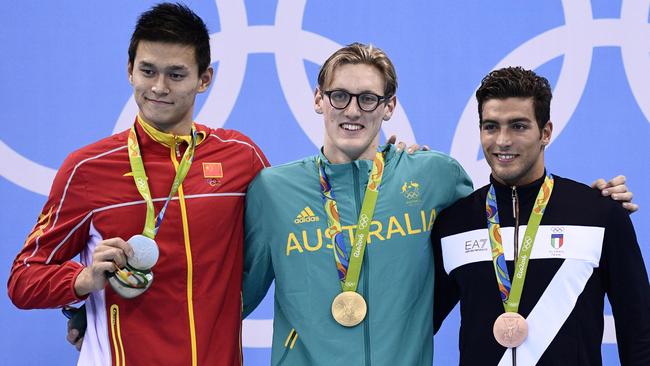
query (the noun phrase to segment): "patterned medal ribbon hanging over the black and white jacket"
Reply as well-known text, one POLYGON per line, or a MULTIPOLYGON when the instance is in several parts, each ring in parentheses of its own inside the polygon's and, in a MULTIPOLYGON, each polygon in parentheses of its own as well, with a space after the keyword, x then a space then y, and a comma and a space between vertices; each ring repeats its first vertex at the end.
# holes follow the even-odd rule
MULTIPOLYGON (((519 310, 519 301, 524 288, 524 281, 526 279, 526 272, 528 271, 528 261, 530 260, 530 253, 533 249, 533 243, 539 224, 542 221, 544 210, 551 198, 553 191, 553 177, 547 172, 544 183, 542 184, 533 211, 528 219, 526 232, 521 245, 521 251, 515 262, 515 276, 510 281, 508 274, 508 267, 506 266, 506 259, 503 253, 503 240, 501 238, 501 230, 499 225, 499 211, 497 208, 496 193, 494 185, 490 186, 487 197, 485 199, 485 211, 487 214, 488 232, 490 235, 490 245, 492 247, 492 263, 494 264, 494 272, 496 274, 499 291, 501 292, 501 301, 506 312, 517 312, 519 310)), ((518 245, 518 243, 515 243, 518 245)))

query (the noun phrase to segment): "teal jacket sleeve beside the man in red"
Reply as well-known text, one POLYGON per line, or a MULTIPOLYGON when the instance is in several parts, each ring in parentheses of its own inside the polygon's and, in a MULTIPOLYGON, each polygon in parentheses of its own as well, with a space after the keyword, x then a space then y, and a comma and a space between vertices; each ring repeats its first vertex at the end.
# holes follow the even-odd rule
POLYGON ((272 215, 265 212, 264 191, 261 175, 250 184, 246 194, 245 241, 244 241, 244 276, 242 297, 244 300, 243 317, 247 317, 264 299, 273 282, 274 272, 269 246, 269 229, 265 227, 263 217, 272 215))

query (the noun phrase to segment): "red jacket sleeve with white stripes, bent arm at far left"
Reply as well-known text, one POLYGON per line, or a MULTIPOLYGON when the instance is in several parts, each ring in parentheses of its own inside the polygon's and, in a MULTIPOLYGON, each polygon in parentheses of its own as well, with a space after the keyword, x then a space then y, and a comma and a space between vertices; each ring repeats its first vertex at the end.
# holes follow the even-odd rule
POLYGON ((54 308, 81 300, 74 282, 84 267, 72 258, 86 246, 92 210, 76 167, 68 157, 57 172, 38 221, 12 264, 7 288, 19 308, 54 308))

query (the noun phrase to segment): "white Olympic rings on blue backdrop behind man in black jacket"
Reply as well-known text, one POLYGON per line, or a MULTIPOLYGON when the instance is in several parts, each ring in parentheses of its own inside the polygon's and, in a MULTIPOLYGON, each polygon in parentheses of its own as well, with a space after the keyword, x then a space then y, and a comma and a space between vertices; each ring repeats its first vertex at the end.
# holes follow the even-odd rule
MULTIPOLYGON (((580 102, 591 70, 593 48, 619 46, 632 94, 650 122, 650 84, 643 77, 650 70, 647 42, 650 39, 650 0, 623 0, 620 18, 594 19, 589 0, 562 0, 562 7, 564 25, 528 40, 504 57, 494 69, 511 65, 536 69, 564 55, 551 102, 552 143, 566 127, 580 102)), ((472 95, 458 121, 450 155, 472 177, 474 186, 481 187, 488 183, 490 167, 484 158, 476 158, 481 146, 477 133, 477 108, 472 95), (467 146, 476 146, 478 150, 467 146)))

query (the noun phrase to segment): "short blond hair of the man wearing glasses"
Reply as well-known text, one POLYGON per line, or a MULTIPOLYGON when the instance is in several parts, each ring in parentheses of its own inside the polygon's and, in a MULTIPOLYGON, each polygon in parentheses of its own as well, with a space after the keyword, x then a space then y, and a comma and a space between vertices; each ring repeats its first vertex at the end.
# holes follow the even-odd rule
POLYGON ((397 91, 395 66, 386 53, 372 44, 352 43, 334 52, 318 73, 318 87, 323 90, 332 81, 334 69, 346 64, 366 64, 376 67, 384 76, 384 96, 392 97, 397 91))

